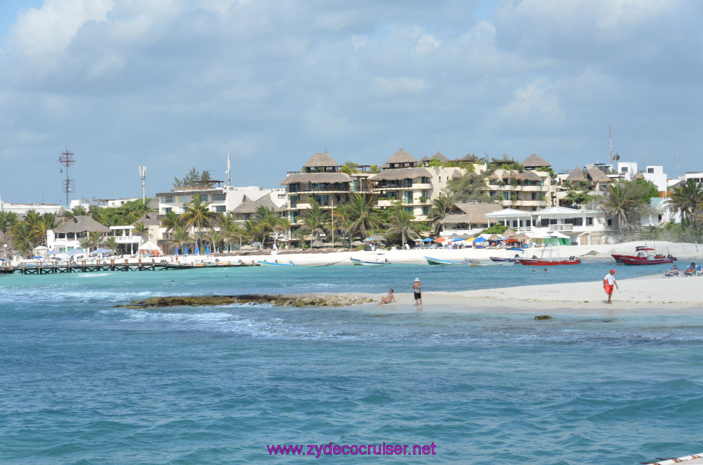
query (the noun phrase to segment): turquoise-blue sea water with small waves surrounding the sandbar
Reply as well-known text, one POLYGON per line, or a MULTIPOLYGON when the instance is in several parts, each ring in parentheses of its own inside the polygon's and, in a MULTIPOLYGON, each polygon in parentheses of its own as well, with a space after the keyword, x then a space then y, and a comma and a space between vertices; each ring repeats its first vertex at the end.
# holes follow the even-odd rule
MULTIPOLYGON (((2 276, 0 463, 636 464, 701 452, 701 315, 113 308, 155 295, 411 292, 414 277, 425 293, 581 280, 600 290, 611 266, 2 276), (266 448, 384 442, 434 443, 436 455, 266 448)), ((661 271, 643 268, 617 277, 661 271)))

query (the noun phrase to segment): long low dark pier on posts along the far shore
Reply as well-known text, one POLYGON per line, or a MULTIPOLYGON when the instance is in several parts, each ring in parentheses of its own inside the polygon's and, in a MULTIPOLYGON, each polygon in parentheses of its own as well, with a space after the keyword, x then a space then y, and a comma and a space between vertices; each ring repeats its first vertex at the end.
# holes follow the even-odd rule
POLYGON ((56 273, 98 273, 104 271, 168 271, 193 270, 199 268, 234 268, 240 266, 261 266, 259 263, 72 263, 71 265, 24 265, 0 268, 1 274, 20 273, 21 275, 53 275, 56 273))

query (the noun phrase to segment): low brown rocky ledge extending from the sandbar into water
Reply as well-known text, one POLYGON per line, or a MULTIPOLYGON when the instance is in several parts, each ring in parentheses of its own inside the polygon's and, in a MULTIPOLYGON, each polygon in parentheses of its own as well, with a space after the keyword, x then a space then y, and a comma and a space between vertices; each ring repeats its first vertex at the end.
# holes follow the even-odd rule
POLYGON ((341 307, 375 302, 370 296, 330 294, 243 294, 240 296, 163 296, 130 301, 115 307, 162 308, 229 305, 233 303, 270 303, 285 307, 341 307))

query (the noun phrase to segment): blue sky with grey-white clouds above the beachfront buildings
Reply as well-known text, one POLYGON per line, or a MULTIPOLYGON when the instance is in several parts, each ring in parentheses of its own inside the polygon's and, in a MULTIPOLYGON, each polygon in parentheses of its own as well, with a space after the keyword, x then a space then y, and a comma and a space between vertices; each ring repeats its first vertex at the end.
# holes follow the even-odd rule
POLYGON ((2 0, 0 197, 278 188, 315 152, 703 170, 703 2, 2 0), (678 163, 677 163, 678 151, 678 163))

